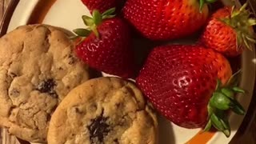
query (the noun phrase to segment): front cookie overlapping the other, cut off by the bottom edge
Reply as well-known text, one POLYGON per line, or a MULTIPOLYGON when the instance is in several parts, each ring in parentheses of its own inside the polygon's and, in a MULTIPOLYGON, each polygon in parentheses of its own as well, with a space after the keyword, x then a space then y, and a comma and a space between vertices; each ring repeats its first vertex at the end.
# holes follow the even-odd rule
POLYGON ((49 144, 154 144, 158 122, 142 92, 120 78, 94 78, 55 110, 49 144))

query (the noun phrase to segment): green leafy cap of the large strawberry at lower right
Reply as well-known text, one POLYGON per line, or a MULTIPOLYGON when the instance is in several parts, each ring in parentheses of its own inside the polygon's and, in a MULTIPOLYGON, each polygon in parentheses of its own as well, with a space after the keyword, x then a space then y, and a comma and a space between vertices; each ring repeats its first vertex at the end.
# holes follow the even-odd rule
POLYGON ((238 77, 241 74, 241 70, 235 73, 229 80, 230 85, 223 86, 221 81, 218 80, 217 87, 213 96, 208 103, 208 122, 205 126, 205 131, 210 130, 211 126, 214 126, 217 130, 222 131, 226 137, 230 137, 230 124, 226 117, 226 110, 232 110, 235 114, 244 115, 246 111, 241 104, 234 99, 234 95, 237 93, 245 93, 244 90, 234 84, 238 84, 238 77), (233 80, 234 79, 234 80, 233 80))

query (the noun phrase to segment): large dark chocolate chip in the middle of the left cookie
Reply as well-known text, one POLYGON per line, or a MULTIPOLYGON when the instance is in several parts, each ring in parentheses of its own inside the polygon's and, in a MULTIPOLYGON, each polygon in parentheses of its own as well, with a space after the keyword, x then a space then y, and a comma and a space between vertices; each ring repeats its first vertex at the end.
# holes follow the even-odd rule
POLYGON ((58 95, 54 90, 55 86, 56 83, 54 82, 54 79, 46 79, 45 81, 39 83, 38 88, 36 90, 40 91, 41 93, 48 93, 52 97, 56 98, 58 95))

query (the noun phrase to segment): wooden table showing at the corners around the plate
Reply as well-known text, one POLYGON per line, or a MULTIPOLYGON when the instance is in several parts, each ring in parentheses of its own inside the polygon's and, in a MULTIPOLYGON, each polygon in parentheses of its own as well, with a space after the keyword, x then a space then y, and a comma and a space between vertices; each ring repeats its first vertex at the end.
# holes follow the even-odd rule
MULTIPOLYGON (((30 0, 28 0, 30 1, 30 0)), ((254 2, 256 7, 256 0, 249 0, 254 2)), ((0 0, 0 22, 2 16, 9 4, 10 0, 0 0)), ((242 0, 241 2, 246 2, 242 0)), ((230 142, 231 144, 256 144, 256 86, 254 88, 254 98, 251 104, 250 117, 244 120, 242 127, 240 127, 238 134, 230 142)), ((0 144, 20 144, 20 142, 14 136, 10 136, 6 130, 0 130, 0 144)))

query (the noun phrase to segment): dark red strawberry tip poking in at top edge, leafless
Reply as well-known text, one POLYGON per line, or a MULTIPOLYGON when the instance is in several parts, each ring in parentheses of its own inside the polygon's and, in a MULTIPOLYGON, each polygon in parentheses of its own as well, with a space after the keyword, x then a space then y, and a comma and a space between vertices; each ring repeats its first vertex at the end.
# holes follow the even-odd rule
POLYGON ((113 7, 119 8, 123 2, 124 0, 82 0, 82 3, 87 6, 90 12, 99 10, 100 13, 113 7))

